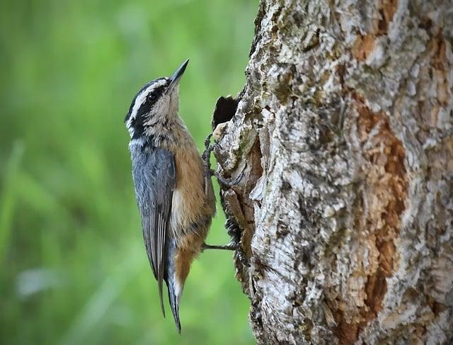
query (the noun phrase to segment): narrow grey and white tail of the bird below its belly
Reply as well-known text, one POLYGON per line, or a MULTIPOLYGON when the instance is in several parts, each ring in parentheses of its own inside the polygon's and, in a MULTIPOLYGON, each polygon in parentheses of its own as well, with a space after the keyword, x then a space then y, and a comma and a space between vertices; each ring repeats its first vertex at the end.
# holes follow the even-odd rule
POLYGON ((176 243, 173 241, 168 241, 168 247, 166 250, 167 257, 167 270, 165 281, 168 288, 168 301, 170 302, 171 312, 173 313, 173 318, 175 319, 176 328, 178 332, 181 332, 181 324, 179 320, 179 300, 181 294, 183 293, 183 283, 178 281, 175 271, 174 257, 176 254, 176 243))

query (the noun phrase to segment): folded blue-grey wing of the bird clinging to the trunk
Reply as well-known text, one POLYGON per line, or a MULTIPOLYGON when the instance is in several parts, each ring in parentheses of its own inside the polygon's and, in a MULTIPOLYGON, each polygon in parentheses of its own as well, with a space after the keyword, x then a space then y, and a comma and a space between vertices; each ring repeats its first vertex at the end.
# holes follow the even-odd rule
POLYGON ((165 271, 166 232, 171 210, 171 198, 176 183, 175 159, 166 149, 144 148, 132 159, 135 196, 142 217, 144 244, 154 277, 159 284, 161 309, 162 282, 165 271))

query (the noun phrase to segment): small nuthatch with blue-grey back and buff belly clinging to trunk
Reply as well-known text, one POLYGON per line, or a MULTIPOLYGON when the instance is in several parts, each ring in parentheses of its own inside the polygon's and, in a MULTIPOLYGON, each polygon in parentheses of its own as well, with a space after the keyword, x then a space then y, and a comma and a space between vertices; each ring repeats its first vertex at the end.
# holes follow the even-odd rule
MULTIPOLYGON (((170 77, 145 84, 125 117, 144 244, 158 283, 162 313, 165 317, 165 282, 179 333, 185 280, 193 259, 210 248, 205 239, 216 212, 209 178, 214 172, 206 171, 209 164, 203 161, 178 114, 179 84, 188 62, 185 60, 170 77)), ((231 245, 212 248, 232 249, 231 245)))

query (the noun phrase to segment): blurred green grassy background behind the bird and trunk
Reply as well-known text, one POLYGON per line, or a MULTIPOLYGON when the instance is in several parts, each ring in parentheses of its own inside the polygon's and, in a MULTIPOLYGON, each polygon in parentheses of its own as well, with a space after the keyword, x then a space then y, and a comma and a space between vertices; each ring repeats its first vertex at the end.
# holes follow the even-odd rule
MULTIPOLYGON (((123 119, 190 58, 180 113, 202 149, 217 97, 245 82, 257 6, 0 2, 1 344, 254 344, 231 252, 193 264, 182 335, 161 316, 123 119)), ((218 210, 207 242, 226 244, 218 210)))

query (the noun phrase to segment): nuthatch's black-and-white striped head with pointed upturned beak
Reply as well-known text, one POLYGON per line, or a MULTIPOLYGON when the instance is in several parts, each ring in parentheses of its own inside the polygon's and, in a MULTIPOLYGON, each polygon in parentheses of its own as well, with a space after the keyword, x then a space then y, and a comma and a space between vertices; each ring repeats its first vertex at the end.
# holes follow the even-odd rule
POLYGON ((171 77, 149 81, 135 95, 125 118, 132 138, 147 136, 154 125, 178 115, 179 81, 188 62, 185 60, 171 77))

